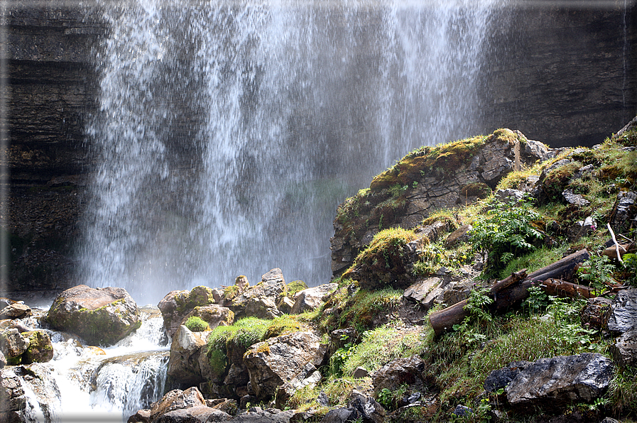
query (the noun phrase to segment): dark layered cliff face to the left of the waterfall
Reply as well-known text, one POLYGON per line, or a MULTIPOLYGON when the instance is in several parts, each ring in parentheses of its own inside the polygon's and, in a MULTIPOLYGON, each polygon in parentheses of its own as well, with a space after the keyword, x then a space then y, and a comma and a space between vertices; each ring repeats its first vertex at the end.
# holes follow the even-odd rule
POLYGON ((64 288, 91 165, 85 123, 97 107, 92 52, 106 26, 62 2, 13 2, 5 10, 2 172, 10 188, 2 238, 10 250, 3 268, 9 290, 64 288))

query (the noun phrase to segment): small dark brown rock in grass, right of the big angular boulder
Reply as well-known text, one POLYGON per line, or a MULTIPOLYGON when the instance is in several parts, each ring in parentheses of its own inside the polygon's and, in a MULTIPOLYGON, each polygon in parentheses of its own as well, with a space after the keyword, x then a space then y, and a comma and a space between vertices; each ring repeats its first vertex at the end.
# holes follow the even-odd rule
POLYGON ((385 388, 396 390, 403 384, 422 386, 423 370, 425 370, 425 362, 418 356, 396 358, 372 375, 374 392, 380 392, 385 388))

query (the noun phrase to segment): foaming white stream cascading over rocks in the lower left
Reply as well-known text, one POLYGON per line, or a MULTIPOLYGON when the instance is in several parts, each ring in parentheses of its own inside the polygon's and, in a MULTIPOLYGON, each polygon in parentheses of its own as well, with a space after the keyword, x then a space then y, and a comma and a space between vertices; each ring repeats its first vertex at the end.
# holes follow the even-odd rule
MULTIPOLYGON (((24 324, 40 328, 46 313, 33 309, 24 324)), ((53 360, 16 368, 26 398, 26 422, 126 422, 160 400, 170 343, 156 307, 140 308, 142 324, 114 346, 89 346, 77 336, 48 331, 53 360)), ((11 370, 14 371, 14 370, 11 370)))

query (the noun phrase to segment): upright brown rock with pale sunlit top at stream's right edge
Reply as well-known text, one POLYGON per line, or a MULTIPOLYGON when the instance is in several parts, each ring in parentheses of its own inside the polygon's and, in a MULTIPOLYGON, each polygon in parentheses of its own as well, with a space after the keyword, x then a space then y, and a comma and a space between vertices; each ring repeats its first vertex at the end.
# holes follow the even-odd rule
POLYGON ((186 385, 197 385, 205 381, 200 367, 201 348, 206 345, 210 331, 192 332, 179 326, 173 343, 170 344, 168 375, 186 385))

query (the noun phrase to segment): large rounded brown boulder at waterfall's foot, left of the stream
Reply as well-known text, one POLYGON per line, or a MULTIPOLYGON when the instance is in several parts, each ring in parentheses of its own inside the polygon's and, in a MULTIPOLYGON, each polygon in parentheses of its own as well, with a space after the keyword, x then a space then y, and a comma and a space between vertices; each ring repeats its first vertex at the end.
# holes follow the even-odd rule
POLYGON ((137 304, 123 288, 77 285, 62 292, 47 314, 53 328, 89 344, 111 345, 141 326, 137 304))

